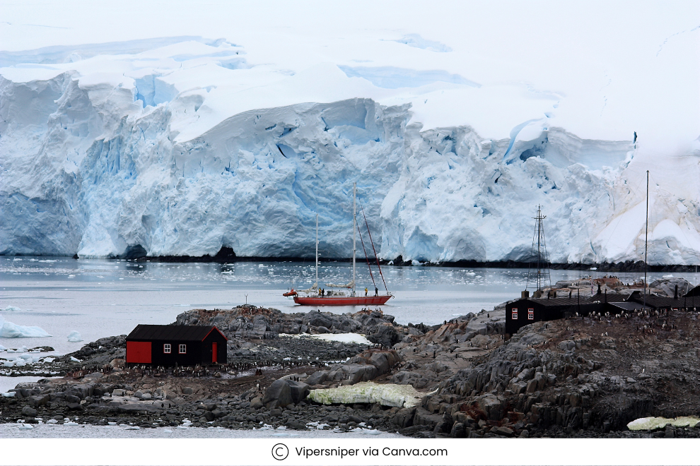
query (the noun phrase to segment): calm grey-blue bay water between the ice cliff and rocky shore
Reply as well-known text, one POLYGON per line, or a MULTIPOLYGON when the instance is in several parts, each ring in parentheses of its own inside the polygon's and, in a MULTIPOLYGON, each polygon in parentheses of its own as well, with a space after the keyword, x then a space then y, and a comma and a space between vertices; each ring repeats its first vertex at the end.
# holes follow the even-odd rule
MULTIPOLYGON (((399 323, 427 324, 481 309, 491 309, 520 295, 527 269, 384 267, 390 291, 395 294, 385 313, 399 323)), ((79 349, 83 342, 68 342, 72 330, 84 342, 129 333, 139 323, 166 324, 193 308, 230 308, 246 301, 283 312, 306 312, 281 294, 288 288, 314 282, 313 263, 134 263, 98 259, 0 256, 0 314, 18 325, 37 325, 52 337, 0 338, 0 345, 50 345, 57 352, 79 349), (8 306, 19 310, 4 310, 8 306)), ((375 270, 375 280, 383 290, 375 270)), ((595 277, 595 272, 592 273, 595 277)), ((603 274, 600 273, 600 276, 603 274)), ((640 273, 617 274, 633 281, 640 273)), ((651 280, 661 273, 650 274, 651 280)), ((693 273, 675 273, 696 282, 693 273)), ((552 282, 573 279, 581 272, 552 270, 552 282)), ((351 279, 349 263, 323 263, 320 283, 351 279)), ((366 263, 358 263, 358 289, 373 289, 366 263)), ((352 307, 324 310, 343 313, 352 307)))

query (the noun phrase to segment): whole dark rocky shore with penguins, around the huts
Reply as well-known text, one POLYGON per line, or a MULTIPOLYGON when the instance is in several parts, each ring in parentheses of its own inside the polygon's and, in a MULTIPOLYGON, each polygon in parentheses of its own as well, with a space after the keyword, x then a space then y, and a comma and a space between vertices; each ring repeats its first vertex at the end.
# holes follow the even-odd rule
POLYGON ((696 438, 700 429, 692 427, 629 431, 626 424, 700 411, 698 318, 672 311, 562 319, 527 325, 504 341, 503 306, 433 326, 402 325, 380 309, 195 309, 175 323, 216 325, 229 338, 229 364, 124 367, 125 336, 102 338, 37 372, 62 378, 21 383, 0 398, 0 422, 696 438), (334 341, 344 334, 369 343, 334 341), (367 402, 360 388, 368 382, 411 386, 420 397, 414 405, 400 397, 367 402), (342 404, 308 396, 339 387, 350 393, 342 404))

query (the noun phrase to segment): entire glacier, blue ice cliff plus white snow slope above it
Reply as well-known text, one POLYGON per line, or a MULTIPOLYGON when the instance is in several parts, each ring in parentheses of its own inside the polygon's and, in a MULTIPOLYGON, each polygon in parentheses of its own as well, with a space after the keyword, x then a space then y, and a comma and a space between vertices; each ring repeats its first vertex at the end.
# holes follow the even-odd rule
POLYGON ((2 25, 0 253, 313 256, 318 213, 322 256, 347 257, 357 181, 384 258, 523 260, 540 204, 553 261, 638 260, 651 169, 650 262, 697 263, 697 65, 684 54, 698 28, 644 31, 634 66, 605 50, 575 73, 503 79, 506 52, 449 29, 298 36, 303 14, 286 13, 291 32, 252 19, 210 28, 226 39, 130 29, 66 46, 32 36, 35 49, 10 37, 30 24, 2 25), (639 71, 675 79, 644 111, 639 71))

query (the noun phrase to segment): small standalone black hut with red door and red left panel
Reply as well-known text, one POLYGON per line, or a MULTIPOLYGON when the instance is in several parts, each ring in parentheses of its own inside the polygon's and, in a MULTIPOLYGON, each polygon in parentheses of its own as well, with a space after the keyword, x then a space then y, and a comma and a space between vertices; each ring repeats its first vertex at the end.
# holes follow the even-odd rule
POLYGON ((226 364, 226 338, 210 325, 136 325, 127 335, 127 364, 226 364))

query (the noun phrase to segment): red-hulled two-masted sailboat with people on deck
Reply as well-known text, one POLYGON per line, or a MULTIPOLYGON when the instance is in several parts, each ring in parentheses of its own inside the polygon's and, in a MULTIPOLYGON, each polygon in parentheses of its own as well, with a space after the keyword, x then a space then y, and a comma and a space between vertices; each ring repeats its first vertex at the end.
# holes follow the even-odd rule
MULTIPOLYGON (((357 239, 356 233, 359 232, 357 226, 357 184, 353 184, 352 188, 352 281, 347 285, 333 285, 332 283, 327 284, 329 288, 341 289, 339 291, 329 290, 322 293, 322 290, 318 286, 318 214, 316 214, 316 282, 309 289, 303 289, 284 293, 284 296, 291 296, 296 304, 302 304, 303 306, 371 306, 377 304, 386 304, 393 295, 386 288, 386 282, 384 282, 386 294, 379 294, 378 287, 375 285, 375 296, 358 296, 355 291, 355 276, 356 276, 356 246, 357 239), (346 289, 346 291, 342 291, 346 289), (303 294, 303 295, 302 295, 303 294)), ((364 215, 364 211, 363 211, 364 215)), ((365 218, 365 225, 367 226, 367 232, 372 241, 372 236, 369 232, 369 225, 367 225, 367 219, 365 218)), ((364 249, 364 241, 362 236, 360 236, 360 241, 364 249)), ((372 241, 372 249, 374 249, 374 242, 372 241)), ((365 258, 367 258, 367 253, 365 252, 365 258)), ((376 251, 375 251, 376 258, 376 251)), ((367 258, 367 265, 369 266, 369 259, 367 258)), ((379 265, 379 260, 377 258, 377 267, 379 273, 384 280, 384 275, 382 274, 382 269, 379 265)), ((374 275, 372 274, 372 268, 370 267, 370 276, 374 282, 374 275)), ((365 292, 365 294, 368 294, 365 292)))

